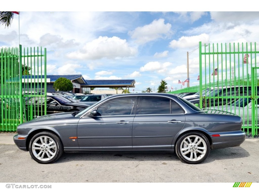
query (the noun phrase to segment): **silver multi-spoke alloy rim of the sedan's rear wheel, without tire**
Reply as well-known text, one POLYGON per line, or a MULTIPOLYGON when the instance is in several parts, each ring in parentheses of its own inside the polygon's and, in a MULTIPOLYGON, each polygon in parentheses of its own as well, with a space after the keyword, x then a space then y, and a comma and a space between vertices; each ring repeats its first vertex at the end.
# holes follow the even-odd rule
POLYGON ((180 152, 188 161, 202 160, 207 152, 205 140, 197 135, 187 136, 181 142, 180 152))

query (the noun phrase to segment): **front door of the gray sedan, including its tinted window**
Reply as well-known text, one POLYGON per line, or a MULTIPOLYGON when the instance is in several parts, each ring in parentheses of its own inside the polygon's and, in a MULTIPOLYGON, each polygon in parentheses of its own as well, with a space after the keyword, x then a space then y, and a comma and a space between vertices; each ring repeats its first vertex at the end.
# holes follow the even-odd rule
POLYGON ((78 122, 81 150, 132 150, 132 125, 136 97, 109 100, 96 108, 97 115, 86 115, 78 122))

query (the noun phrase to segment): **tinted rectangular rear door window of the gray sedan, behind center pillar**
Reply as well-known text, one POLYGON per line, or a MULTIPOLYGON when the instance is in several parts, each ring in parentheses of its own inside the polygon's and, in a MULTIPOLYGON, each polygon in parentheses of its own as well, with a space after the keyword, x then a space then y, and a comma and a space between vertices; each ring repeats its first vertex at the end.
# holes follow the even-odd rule
POLYGON ((160 97, 141 97, 138 104, 138 115, 170 114, 170 99, 160 97))

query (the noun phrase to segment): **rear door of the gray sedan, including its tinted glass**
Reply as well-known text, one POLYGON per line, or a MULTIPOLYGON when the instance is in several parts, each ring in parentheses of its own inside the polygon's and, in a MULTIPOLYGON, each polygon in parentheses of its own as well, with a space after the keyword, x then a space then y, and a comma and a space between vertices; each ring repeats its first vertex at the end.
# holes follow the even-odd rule
POLYGON ((140 97, 133 122, 132 142, 136 150, 169 150, 185 123, 184 110, 163 97, 140 97))

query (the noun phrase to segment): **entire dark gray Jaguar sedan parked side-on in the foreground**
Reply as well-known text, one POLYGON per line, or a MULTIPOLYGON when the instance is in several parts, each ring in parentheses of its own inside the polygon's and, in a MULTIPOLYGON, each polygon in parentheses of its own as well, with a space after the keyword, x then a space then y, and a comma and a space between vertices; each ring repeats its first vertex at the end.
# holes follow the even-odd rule
POLYGON ((211 149, 239 146, 246 138, 241 117, 204 111, 167 93, 112 95, 82 111, 37 117, 17 132, 18 148, 42 164, 71 151, 175 151, 183 162, 198 164, 211 149))

